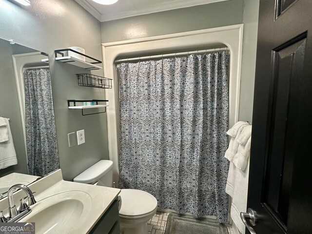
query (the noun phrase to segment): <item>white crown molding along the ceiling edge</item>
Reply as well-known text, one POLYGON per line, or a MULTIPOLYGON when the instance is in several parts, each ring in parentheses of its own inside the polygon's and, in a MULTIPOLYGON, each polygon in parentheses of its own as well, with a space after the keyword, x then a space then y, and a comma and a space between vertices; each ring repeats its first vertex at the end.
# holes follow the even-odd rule
POLYGON ((100 20, 101 22, 110 21, 110 20, 119 20, 123 18, 128 18, 132 16, 139 15, 147 15, 151 13, 161 12, 161 11, 169 11, 175 10, 178 8, 186 8, 197 5, 204 5, 219 1, 227 1, 227 0, 171 0, 166 3, 156 4, 154 6, 146 7, 145 9, 134 10, 134 11, 120 11, 116 13, 110 13, 101 15, 89 2, 86 0, 75 0, 80 4, 84 9, 86 9, 90 14, 92 14, 95 18, 100 20))

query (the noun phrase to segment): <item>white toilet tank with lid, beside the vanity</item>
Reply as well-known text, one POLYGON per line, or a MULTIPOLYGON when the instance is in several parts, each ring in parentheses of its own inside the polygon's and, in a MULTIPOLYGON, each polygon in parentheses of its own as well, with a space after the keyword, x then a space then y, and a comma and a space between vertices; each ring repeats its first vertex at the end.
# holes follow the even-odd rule
POLYGON ((74 178, 74 182, 113 187, 113 161, 100 160, 74 178))

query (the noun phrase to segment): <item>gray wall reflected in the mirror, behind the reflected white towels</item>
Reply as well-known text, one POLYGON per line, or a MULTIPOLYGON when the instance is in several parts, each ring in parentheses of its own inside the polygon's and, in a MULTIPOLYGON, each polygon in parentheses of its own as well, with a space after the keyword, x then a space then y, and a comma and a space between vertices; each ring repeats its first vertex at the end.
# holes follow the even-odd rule
POLYGON ((18 158, 18 164, 1 169, 0 176, 12 172, 28 172, 12 54, 9 41, 0 39, 0 116, 10 118, 10 129, 18 158))

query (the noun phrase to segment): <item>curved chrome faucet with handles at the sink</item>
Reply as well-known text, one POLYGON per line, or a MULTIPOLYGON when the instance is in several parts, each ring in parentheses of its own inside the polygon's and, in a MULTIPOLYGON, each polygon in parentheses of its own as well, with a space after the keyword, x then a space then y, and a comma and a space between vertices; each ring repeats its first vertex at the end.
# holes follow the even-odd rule
POLYGON ((31 212, 31 209, 29 206, 34 205, 36 203, 35 197, 33 192, 28 188, 26 185, 23 184, 16 184, 13 185, 9 191, 8 191, 8 201, 9 201, 9 221, 7 222, 15 222, 20 220, 25 215, 29 214, 31 212), (28 198, 28 205, 25 203, 25 199, 22 198, 20 200, 20 210, 18 211, 16 208, 16 205, 14 204, 13 200, 13 192, 16 191, 16 189, 21 189, 27 194, 28 198))

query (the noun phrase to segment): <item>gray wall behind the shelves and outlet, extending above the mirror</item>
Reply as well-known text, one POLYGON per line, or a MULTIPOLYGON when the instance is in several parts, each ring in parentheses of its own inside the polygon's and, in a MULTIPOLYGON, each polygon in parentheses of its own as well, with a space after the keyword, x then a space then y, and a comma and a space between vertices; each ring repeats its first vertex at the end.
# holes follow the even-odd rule
POLYGON ((64 179, 72 180, 98 160, 108 159, 107 119, 106 114, 83 117, 79 110, 68 110, 67 99, 105 99, 105 93, 78 86, 75 74, 86 70, 56 62, 54 50, 80 46, 101 60, 100 23, 74 0, 36 0, 28 7, 0 0, 0 6, 0 38, 50 55, 60 167, 64 179), (67 134, 81 129, 86 143, 69 148, 67 134))

